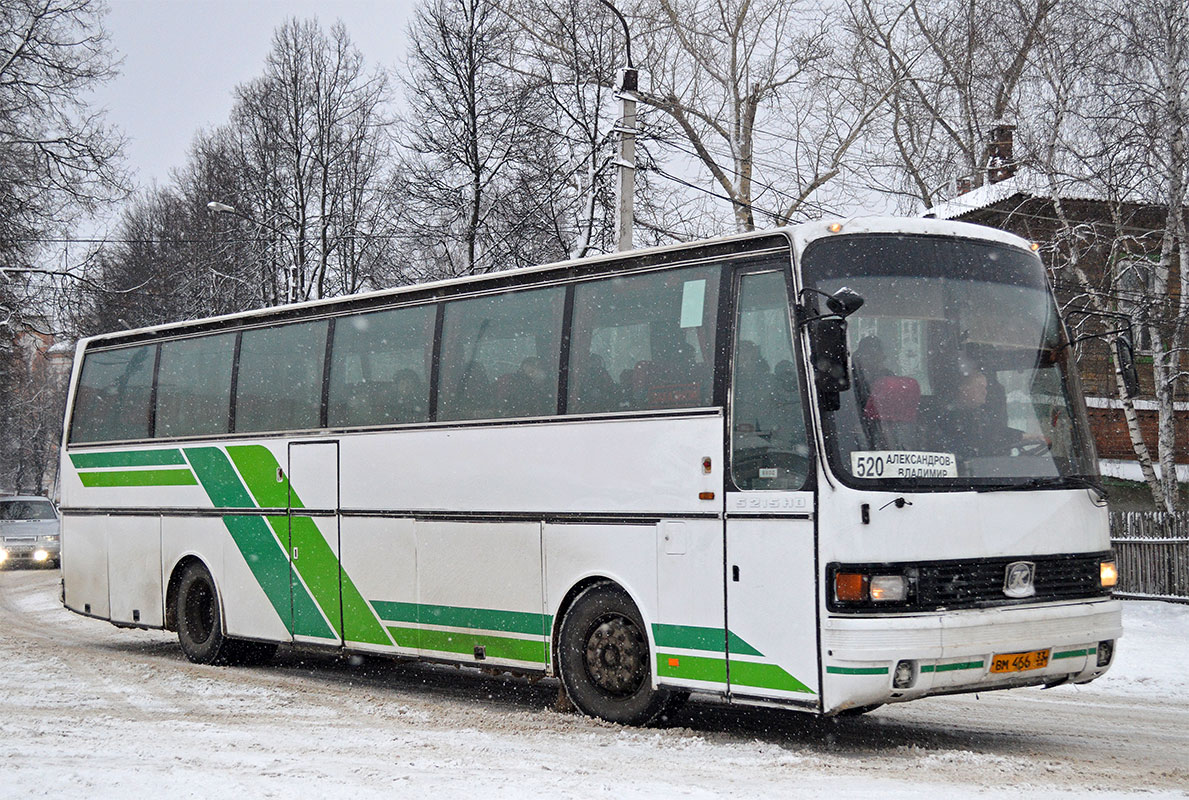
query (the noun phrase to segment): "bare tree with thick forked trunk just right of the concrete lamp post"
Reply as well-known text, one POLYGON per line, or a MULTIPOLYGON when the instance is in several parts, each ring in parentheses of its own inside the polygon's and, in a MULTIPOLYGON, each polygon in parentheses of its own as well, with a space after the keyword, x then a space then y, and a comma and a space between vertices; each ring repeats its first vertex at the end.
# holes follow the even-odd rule
POLYGON ((838 29, 786 0, 643 0, 633 23, 641 96, 672 120, 671 143, 709 172, 735 228, 816 210, 881 102, 842 68, 838 29))

